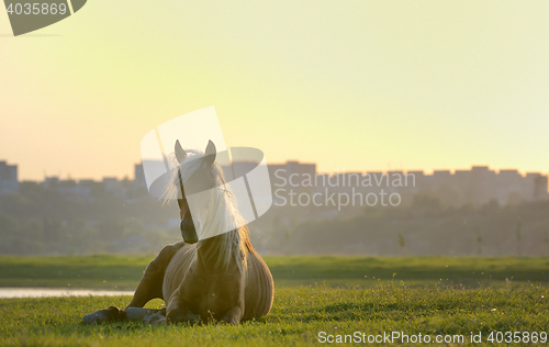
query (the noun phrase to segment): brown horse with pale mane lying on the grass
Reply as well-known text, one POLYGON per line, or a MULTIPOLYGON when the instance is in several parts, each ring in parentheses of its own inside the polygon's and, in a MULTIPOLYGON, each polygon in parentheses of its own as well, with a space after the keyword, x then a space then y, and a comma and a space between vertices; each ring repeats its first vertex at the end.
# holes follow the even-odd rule
POLYGON ((150 261, 124 310, 111 306, 98 311, 99 315, 89 315, 88 321, 85 317, 85 322, 141 320, 144 315, 135 315, 136 307, 157 298, 166 303, 165 316, 156 313, 152 320, 145 314, 148 323, 238 325, 270 312, 274 292, 271 272, 251 246, 247 225, 215 156, 212 141, 205 153, 184 150, 176 142, 172 160, 177 169, 172 170, 165 199, 177 199, 183 240, 165 246, 150 261), (205 192, 198 208, 189 206, 187 197, 191 193, 187 191, 186 195, 186 190, 190 189, 205 192), (231 225, 239 226, 228 231, 231 225), (199 235, 215 236, 199 239, 199 235))

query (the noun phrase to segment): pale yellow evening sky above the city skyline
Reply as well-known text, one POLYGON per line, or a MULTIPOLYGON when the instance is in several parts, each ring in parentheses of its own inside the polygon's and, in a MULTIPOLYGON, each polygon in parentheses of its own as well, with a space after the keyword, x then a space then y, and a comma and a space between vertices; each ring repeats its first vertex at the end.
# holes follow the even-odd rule
POLYGON ((88 0, 13 37, 0 13, 0 160, 22 180, 132 178, 149 131, 214 105, 226 144, 268 163, 549 174, 548 16, 545 0, 88 0))

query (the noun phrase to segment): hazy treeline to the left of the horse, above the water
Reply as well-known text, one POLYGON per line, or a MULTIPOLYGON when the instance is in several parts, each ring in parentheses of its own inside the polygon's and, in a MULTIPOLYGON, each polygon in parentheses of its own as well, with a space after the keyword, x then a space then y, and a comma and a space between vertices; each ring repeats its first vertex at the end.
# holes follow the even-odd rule
POLYGON ((173 219, 176 204, 146 194, 127 202, 98 189, 85 200, 22 182, 20 194, 0 197, 0 254, 155 253, 178 239, 173 219))

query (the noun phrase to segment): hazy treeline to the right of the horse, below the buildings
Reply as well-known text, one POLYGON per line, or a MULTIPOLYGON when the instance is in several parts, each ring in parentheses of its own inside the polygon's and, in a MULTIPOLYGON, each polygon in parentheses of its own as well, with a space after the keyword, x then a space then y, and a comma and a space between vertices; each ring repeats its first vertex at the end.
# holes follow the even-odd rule
POLYGON ((303 220, 273 215, 267 253, 289 255, 549 256, 549 202, 452 208, 430 195, 402 206, 365 208, 355 215, 303 220))

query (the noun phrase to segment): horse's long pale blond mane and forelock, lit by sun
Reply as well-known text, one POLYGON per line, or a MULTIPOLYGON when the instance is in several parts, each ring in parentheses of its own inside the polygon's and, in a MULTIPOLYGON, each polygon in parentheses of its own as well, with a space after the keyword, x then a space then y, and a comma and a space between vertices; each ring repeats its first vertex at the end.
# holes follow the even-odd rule
MULTIPOLYGON (((181 164, 177 161, 175 154, 168 156, 169 164, 173 169, 171 170, 170 183, 165 190, 165 202, 178 199, 180 194, 179 177, 176 168, 179 167, 181 179, 184 182, 204 163, 201 160, 205 156, 203 152, 195 149, 186 149, 186 152, 188 156, 181 164)), ((210 212, 206 221, 204 221, 203 231, 206 235, 212 233, 216 235, 215 233, 222 228, 231 231, 201 239, 191 249, 198 250, 200 248, 206 260, 214 261, 216 268, 225 270, 229 270, 228 267, 232 259, 234 259, 237 270, 243 272, 247 267, 247 254, 253 250, 248 237, 248 227, 238 212, 236 198, 231 187, 225 182, 223 169, 217 163, 214 163, 212 170, 216 184, 213 188, 213 201, 210 204, 210 212), (231 225, 237 225, 237 227, 233 228, 231 225)))

